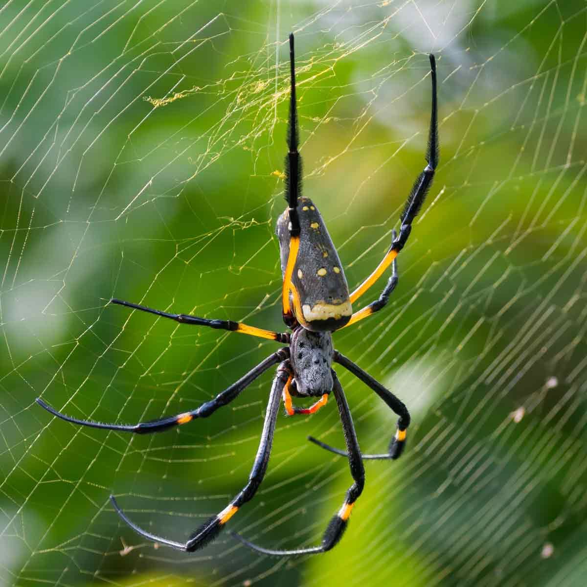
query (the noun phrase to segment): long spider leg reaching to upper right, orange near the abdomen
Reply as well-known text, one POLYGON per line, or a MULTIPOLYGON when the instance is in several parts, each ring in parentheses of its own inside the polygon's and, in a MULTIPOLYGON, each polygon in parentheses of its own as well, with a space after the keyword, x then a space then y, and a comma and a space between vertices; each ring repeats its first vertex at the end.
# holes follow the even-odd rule
MULTIPOLYGON (((380 264, 377 265, 375 271, 373 271, 373 273, 369 275, 369 277, 367 277, 367 279, 365 279, 365 281, 363 281, 363 283, 359 285, 359 287, 355 289, 352 294, 350 294, 351 303, 354 303, 357 299, 360 298, 360 296, 365 294, 367 289, 375 284, 377 279, 383 275, 383 272, 386 271, 389 265, 392 264, 393 260, 397 257, 399 252, 404 248, 404 245, 410 236, 411 223, 420 211, 420 208, 424 203, 424 198, 426 198, 426 194, 430 188, 430 185, 432 184, 434 171, 438 165, 438 109, 436 96, 436 60, 434 59, 434 55, 430 55, 430 77, 432 79, 432 107, 430 114, 428 148, 426 150, 426 161, 428 164, 414 182, 410 195, 407 198, 406 207, 404 207, 404 211, 400 218, 402 225, 400 226, 399 237, 394 235, 392 246, 389 248, 389 251, 387 251, 380 264)), ((356 322, 361 318, 366 318, 366 316, 370 315, 370 313, 372 312, 365 313, 365 315, 361 315, 360 318, 356 318, 354 320, 351 319, 351 322, 356 322)), ((353 318, 355 318, 354 315, 353 318)))

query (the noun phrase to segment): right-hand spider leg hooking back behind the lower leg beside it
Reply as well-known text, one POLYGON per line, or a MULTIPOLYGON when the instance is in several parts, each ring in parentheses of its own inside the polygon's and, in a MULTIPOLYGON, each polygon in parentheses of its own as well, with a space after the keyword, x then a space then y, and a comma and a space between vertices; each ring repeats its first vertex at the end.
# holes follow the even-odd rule
MULTIPOLYGON (((363 459, 384 459, 384 458, 399 458, 403 452, 404 446, 406 446, 406 431, 410 425, 410 413, 407 411, 406 405, 399 400, 392 392, 385 389, 381 383, 366 373, 358 365, 347 359, 344 355, 341 355, 338 350, 335 350, 334 360, 346 367, 353 375, 358 377, 363 383, 367 384, 386 404, 390 407, 398 416, 396 434, 389 443, 389 451, 386 454, 363 454, 363 459)), ((339 448, 333 448, 328 444, 316 440, 312 436, 308 437, 308 440, 314 444, 318 444, 322 448, 326 448, 331 453, 340 454, 342 456, 348 456, 348 453, 340 450, 339 448)))

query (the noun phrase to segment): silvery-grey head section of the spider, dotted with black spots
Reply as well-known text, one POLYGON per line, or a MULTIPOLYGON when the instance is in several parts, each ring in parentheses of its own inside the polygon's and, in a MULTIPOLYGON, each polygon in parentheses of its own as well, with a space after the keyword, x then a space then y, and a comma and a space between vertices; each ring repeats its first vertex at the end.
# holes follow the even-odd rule
POLYGON ((298 396, 320 397, 332 391, 332 337, 330 332, 297 328, 292 334, 289 362, 294 369, 298 396))

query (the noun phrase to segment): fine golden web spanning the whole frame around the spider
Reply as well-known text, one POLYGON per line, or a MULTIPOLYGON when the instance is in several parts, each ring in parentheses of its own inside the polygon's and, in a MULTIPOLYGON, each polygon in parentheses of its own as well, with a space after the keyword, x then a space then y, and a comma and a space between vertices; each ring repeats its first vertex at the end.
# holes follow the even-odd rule
MULTIPOLYGON (((587 7, 564 0, 8 1, 0 8, 0 580, 5 585, 582 585, 587 573, 587 7), (296 33, 305 193, 352 288, 424 165, 427 52, 441 165, 387 308, 335 345, 413 414, 329 554, 184 540, 247 480, 276 348, 108 305, 282 330, 274 223, 296 33)), ((383 281, 383 280, 382 280, 383 281)), ((383 282, 365 295, 379 295, 383 282)), ((339 369, 362 450, 388 413, 339 369)), ((331 400, 332 402, 332 400, 331 400)), ((332 402, 333 403, 333 402, 332 402)), ((331 404, 280 414, 265 481, 230 527, 318 544, 350 485, 331 404)))

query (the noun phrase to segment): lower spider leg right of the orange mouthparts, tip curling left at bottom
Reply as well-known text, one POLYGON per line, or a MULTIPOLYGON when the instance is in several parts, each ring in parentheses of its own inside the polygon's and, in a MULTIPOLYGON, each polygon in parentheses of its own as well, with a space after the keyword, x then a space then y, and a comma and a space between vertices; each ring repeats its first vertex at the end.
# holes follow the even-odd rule
POLYGON ((300 554, 318 554, 318 552, 329 551, 338 543, 340 538, 342 538, 342 534, 349 521, 350 512, 355 505, 357 498, 363 491, 365 485, 365 468, 363 467, 363 460, 355 427, 353 426, 353 419, 350 416, 349 404, 346 402, 345 393, 342 390, 342 386, 340 386, 340 382, 334 370, 332 371, 332 377, 334 379, 332 392, 334 393, 336 404, 338 405, 340 421, 342 423, 343 432, 345 433, 346 450, 348 451, 346 454, 349 457, 350 474, 352 475, 354 482, 346 492, 346 498, 342 507, 332 519, 330 519, 328 527, 322 535, 322 544, 320 546, 311 546, 310 548, 298 548, 287 551, 274 550, 262 548, 262 546, 257 546, 256 544, 245 540, 238 534, 232 534, 243 544, 257 552, 275 556, 295 556, 300 554))

